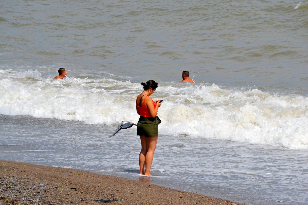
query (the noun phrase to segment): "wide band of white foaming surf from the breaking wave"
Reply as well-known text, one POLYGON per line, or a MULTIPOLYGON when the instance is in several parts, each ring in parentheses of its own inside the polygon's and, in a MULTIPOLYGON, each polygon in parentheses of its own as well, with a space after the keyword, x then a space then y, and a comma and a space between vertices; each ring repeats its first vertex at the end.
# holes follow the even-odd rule
MULTIPOLYGON (((117 125, 137 122, 139 83, 101 78, 55 80, 38 71, 0 72, 0 113, 117 125)), ((161 135, 188 135, 293 149, 308 148, 308 99, 218 85, 161 83, 152 95, 161 135)))

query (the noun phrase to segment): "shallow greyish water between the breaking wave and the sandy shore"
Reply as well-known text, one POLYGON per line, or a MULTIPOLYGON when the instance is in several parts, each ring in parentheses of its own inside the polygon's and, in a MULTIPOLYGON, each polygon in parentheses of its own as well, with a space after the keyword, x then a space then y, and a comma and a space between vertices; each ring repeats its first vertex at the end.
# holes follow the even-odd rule
POLYGON ((139 175, 136 128, 107 138, 115 126, 1 115, 0 158, 197 192, 246 204, 305 204, 307 150, 160 135, 155 177, 139 175))

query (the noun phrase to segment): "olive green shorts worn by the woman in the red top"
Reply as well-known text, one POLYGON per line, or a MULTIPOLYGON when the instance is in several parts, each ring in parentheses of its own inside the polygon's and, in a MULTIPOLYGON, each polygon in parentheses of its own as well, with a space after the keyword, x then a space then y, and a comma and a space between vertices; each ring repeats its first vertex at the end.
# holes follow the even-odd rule
POLYGON ((140 116, 137 123, 137 135, 146 137, 158 136, 158 119, 152 117, 140 116))

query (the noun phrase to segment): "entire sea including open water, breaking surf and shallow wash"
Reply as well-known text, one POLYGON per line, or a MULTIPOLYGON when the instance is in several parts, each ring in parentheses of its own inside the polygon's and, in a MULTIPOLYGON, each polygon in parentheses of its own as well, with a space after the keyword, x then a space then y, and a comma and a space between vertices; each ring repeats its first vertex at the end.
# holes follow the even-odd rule
POLYGON ((2 1, 0 159, 246 204, 308 199, 308 3, 2 1), (55 80, 64 67, 69 79, 55 80), (190 71, 195 84, 180 83, 190 71), (139 173, 140 82, 163 99, 139 173))

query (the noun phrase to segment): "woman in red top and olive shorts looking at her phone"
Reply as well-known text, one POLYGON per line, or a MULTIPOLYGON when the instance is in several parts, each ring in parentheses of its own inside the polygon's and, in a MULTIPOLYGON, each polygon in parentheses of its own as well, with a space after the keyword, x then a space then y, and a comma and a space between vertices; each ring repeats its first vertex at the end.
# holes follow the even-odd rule
POLYGON ((149 80, 146 83, 142 82, 141 85, 144 91, 136 99, 136 110, 138 115, 140 115, 137 123, 139 125, 137 126, 137 135, 140 136, 141 140, 139 166, 140 174, 152 176, 150 170, 158 139, 159 122, 156 115, 161 102, 159 100, 153 101, 150 97, 157 88, 157 82, 149 80))

